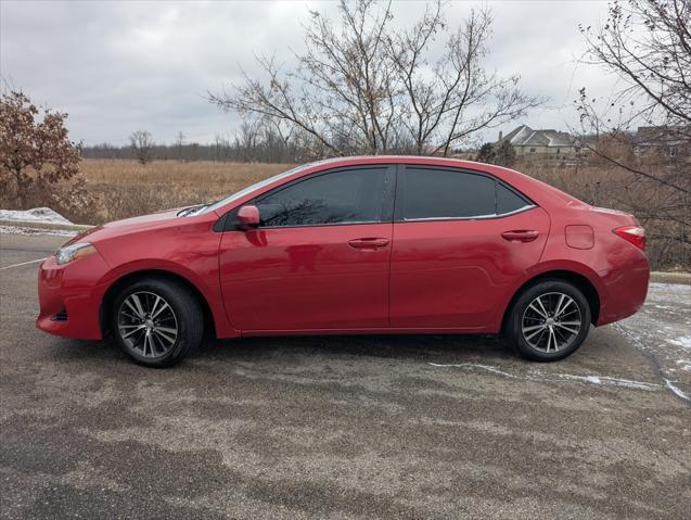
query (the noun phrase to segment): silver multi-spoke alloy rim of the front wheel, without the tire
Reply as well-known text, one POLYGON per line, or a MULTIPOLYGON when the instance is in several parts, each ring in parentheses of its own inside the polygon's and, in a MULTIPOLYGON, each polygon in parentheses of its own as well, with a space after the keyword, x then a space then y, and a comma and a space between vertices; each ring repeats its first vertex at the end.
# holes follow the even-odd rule
POLYGON ((178 339, 178 320, 172 307, 153 292, 128 295, 118 310, 117 326, 123 341, 149 358, 165 355, 178 339))

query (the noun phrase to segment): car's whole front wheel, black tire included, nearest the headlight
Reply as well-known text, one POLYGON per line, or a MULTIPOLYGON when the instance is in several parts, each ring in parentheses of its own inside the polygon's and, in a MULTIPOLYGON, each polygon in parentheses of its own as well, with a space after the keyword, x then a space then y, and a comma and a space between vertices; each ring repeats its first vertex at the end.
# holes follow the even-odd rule
POLYGON ((115 297, 111 330, 123 352, 135 362, 169 367, 202 342, 204 314, 196 295, 187 287, 163 279, 140 279, 115 297))

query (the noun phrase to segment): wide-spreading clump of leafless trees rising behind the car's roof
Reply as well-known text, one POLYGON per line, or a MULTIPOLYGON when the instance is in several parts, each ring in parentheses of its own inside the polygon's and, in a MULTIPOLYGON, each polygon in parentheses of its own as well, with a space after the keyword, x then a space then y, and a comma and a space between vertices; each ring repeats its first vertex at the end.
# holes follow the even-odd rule
POLYGON ((243 116, 268 118, 311 142, 315 152, 414 152, 447 155, 479 130, 516 117, 540 100, 500 78, 483 62, 491 17, 473 11, 456 31, 442 3, 396 31, 389 3, 342 0, 338 20, 310 12, 306 51, 283 73, 273 58, 258 58, 267 80, 244 74, 212 102, 243 116), (434 39, 446 39, 435 55, 434 39))

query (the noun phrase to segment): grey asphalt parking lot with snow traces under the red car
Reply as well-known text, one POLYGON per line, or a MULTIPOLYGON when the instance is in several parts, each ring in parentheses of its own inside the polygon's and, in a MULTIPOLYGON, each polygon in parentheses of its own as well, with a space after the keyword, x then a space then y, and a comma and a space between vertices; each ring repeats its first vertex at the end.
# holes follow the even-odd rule
POLYGON ((0 240, 3 518, 689 518, 690 286, 556 364, 320 337, 152 370, 35 328, 65 237, 0 240))

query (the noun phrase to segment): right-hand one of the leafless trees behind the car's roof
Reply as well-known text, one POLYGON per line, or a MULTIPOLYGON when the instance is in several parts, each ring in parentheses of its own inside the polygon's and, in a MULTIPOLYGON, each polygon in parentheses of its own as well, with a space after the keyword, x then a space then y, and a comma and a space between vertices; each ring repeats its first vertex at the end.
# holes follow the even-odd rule
POLYGON ((519 76, 501 78, 484 68, 490 26, 489 11, 471 10, 463 24, 447 35, 445 52, 430 61, 427 46, 445 28, 437 3, 427 7, 411 29, 388 40, 407 109, 401 121, 418 154, 433 142, 432 153, 448 155, 452 144, 521 117, 540 103, 517 89, 519 76))

